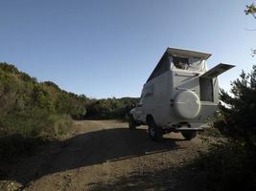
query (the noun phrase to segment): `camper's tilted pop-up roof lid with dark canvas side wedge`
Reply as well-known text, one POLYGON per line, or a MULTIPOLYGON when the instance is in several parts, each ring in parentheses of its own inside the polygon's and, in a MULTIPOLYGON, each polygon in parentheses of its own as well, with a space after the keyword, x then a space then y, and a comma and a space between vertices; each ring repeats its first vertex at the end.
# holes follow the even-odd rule
POLYGON ((189 50, 183 50, 183 49, 175 49, 175 48, 167 48, 166 52, 161 57, 160 61, 154 68, 153 72, 151 73, 149 79, 150 81, 155 76, 158 76, 159 74, 163 74, 164 72, 170 70, 170 62, 169 62, 169 56, 170 55, 179 55, 179 56, 186 56, 186 57, 198 57, 201 59, 208 59, 212 54, 210 53, 200 53, 196 51, 189 51, 189 50))

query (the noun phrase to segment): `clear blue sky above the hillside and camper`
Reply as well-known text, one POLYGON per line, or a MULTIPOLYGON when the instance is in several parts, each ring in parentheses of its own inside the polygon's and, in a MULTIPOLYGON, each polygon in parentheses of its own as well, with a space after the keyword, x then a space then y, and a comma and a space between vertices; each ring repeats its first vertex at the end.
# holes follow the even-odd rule
POLYGON ((167 47, 212 53, 237 67, 256 58, 256 20, 242 0, 0 0, 0 61, 89 97, 140 96, 167 47))

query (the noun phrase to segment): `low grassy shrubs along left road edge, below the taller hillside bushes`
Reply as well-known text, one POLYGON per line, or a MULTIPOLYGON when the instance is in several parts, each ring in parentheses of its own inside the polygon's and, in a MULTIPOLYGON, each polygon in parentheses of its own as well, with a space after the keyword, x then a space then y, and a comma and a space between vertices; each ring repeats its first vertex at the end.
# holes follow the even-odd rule
POLYGON ((56 139, 63 140, 68 134, 73 124, 71 117, 49 116, 35 111, 6 121, 12 129, 0 131, 0 159, 12 161, 16 156, 32 155, 38 145, 56 139))

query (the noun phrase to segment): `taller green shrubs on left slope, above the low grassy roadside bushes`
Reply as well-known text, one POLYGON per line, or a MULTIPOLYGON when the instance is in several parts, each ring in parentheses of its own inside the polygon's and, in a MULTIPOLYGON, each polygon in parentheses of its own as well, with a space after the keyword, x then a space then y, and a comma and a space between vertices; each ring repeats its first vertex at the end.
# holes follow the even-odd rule
MULTIPOLYGON (((19 72, 13 65, 0 63, 0 101, 8 110, 29 110, 33 107, 49 114, 85 115, 86 96, 67 93, 54 82, 37 82, 29 74, 19 72)), ((1 108, 2 113, 6 111, 1 108)))

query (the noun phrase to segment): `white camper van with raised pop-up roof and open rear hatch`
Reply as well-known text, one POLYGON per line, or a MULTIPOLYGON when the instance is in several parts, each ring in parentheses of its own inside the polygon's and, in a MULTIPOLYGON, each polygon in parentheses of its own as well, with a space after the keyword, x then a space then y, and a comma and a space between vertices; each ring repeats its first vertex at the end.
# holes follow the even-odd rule
POLYGON ((129 128, 149 125, 153 140, 170 132, 195 138, 218 110, 217 76, 234 67, 219 64, 207 71, 210 56, 168 48, 144 84, 139 105, 129 113, 129 128))

